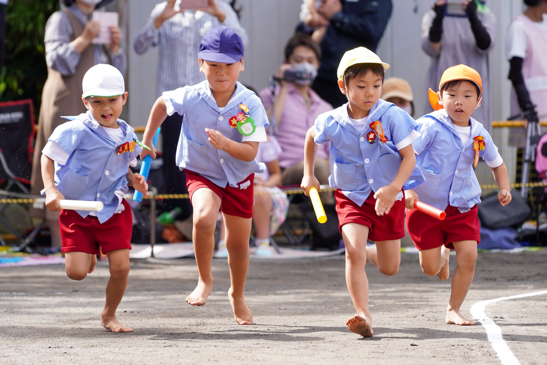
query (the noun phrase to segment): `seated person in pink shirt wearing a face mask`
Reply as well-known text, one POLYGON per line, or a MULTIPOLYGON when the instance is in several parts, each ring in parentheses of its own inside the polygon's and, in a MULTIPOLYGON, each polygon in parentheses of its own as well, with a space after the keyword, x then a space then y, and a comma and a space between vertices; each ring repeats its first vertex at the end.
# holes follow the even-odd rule
MULTIPOLYGON (((314 125, 317 116, 333 110, 329 103, 311 89, 313 78, 287 81, 286 71, 317 70, 320 58, 321 48, 309 35, 294 34, 285 47, 285 59, 276 74, 279 85, 275 89, 273 110, 270 89, 266 88, 259 93, 266 113, 270 119, 273 113, 276 121, 275 136, 282 150, 279 156, 279 165, 282 169, 281 185, 300 184, 304 176, 304 139, 307 129, 314 125)), ((315 173, 319 184, 328 184, 328 143, 320 146, 317 152, 315 173)), ((324 204, 334 204, 333 197, 326 193, 322 194, 322 200, 324 204)))

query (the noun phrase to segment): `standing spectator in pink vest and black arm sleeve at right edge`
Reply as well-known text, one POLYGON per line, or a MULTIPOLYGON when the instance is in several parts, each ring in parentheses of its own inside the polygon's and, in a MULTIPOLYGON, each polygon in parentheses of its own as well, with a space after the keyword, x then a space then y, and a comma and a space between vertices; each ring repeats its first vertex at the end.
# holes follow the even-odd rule
POLYGON ((511 115, 547 120, 547 0, 524 3, 528 8, 510 23, 506 43, 511 115))

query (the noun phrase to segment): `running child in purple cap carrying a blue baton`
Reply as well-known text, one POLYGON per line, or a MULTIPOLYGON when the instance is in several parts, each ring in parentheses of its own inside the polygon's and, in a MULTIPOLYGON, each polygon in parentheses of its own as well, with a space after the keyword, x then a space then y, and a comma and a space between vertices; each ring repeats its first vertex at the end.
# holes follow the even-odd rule
MULTIPOLYGON (((244 296, 249 266, 249 236, 253 216, 254 173, 266 167, 255 161, 258 144, 266 141, 269 124, 260 98, 237 82, 243 71, 243 43, 229 27, 205 34, 198 54, 206 80, 166 91, 156 100, 143 142, 152 137, 167 115, 183 115, 177 166, 186 170, 194 207, 193 242, 199 271, 196 289, 186 298, 203 305, 211 294, 214 229, 222 211, 226 229, 231 287, 228 297, 240 325, 253 323, 244 296)), ((156 157, 154 149, 141 153, 156 157)))

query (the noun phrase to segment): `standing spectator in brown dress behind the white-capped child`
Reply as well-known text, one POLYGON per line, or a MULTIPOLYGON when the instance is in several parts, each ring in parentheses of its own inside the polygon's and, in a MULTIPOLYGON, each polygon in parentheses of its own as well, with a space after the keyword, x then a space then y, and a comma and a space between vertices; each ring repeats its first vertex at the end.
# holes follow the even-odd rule
MULTIPOLYGON (((82 102, 84 74, 95 64, 108 63, 120 70, 127 68, 127 59, 120 47, 122 34, 119 27, 110 27, 109 45, 91 44, 101 30, 101 24, 91 20, 96 8, 113 0, 63 0, 68 7, 53 13, 45 25, 45 62, 48 79, 42 92, 42 106, 38 135, 34 146, 31 193, 39 195, 43 189, 40 156, 51 133, 66 119, 62 115, 78 115, 87 109, 82 102)), ((59 213, 31 208, 33 217, 46 217, 53 246, 61 245, 59 213)))

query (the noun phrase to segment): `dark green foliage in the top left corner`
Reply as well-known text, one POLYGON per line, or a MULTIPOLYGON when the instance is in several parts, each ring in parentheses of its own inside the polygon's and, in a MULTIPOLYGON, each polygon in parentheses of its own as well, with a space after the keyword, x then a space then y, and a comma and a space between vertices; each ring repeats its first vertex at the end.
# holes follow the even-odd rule
POLYGON ((0 76, 0 101, 32 99, 38 115, 48 77, 44 28, 59 9, 59 0, 13 0, 6 8, 5 60, 0 76))

